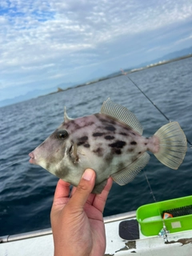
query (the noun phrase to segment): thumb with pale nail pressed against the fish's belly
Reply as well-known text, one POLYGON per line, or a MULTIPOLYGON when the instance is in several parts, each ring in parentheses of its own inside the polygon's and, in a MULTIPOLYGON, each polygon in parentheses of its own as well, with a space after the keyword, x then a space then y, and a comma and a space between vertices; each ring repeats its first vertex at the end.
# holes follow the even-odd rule
POLYGON ((87 198, 89 197, 91 191, 94 188, 96 174, 92 169, 86 169, 82 174, 82 178, 78 183, 76 190, 72 198, 70 198, 70 202, 73 206, 77 208, 83 208, 86 203, 87 198))

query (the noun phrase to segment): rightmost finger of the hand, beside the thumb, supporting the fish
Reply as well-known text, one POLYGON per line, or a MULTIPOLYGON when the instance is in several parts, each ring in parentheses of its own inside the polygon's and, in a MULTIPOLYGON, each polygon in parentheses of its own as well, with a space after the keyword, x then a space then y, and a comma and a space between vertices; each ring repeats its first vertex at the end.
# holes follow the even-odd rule
POLYGON ((106 198, 110 192, 111 186, 113 185, 113 179, 108 178, 106 186, 102 190, 102 194, 96 194, 93 202, 93 206, 103 212, 106 206, 106 198))

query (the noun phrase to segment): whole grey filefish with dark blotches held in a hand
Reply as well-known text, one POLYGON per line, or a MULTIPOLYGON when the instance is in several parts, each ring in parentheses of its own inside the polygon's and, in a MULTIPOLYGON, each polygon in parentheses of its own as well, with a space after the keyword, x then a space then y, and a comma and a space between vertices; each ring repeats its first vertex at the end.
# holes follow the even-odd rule
POLYGON ((108 98, 100 113, 69 118, 30 152, 30 163, 78 186, 83 172, 96 173, 92 193, 100 194, 107 179, 120 186, 132 182, 150 160, 152 152, 165 166, 177 170, 185 158, 186 135, 178 122, 169 122, 146 138, 142 125, 126 107, 108 98))

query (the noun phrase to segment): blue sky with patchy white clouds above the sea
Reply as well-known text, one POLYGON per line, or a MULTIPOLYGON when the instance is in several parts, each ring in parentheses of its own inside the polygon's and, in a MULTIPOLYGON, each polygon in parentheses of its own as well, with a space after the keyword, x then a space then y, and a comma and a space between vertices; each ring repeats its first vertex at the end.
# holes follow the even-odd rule
POLYGON ((192 0, 1 0, 0 101, 192 46, 192 0))

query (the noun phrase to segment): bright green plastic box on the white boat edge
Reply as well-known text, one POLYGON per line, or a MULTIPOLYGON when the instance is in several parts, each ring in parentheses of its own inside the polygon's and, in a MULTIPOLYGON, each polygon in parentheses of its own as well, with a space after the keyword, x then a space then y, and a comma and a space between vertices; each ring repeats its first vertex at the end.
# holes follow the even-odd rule
MULTIPOLYGON (((137 210, 137 221, 142 234, 146 236, 158 235, 162 230, 162 213, 164 211, 192 205, 192 196, 176 198, 162 202, 154 202, 140 206, 137 210)), ((192 230, 192 214, 164 219, 166 230, 170 233, 192 230)))

